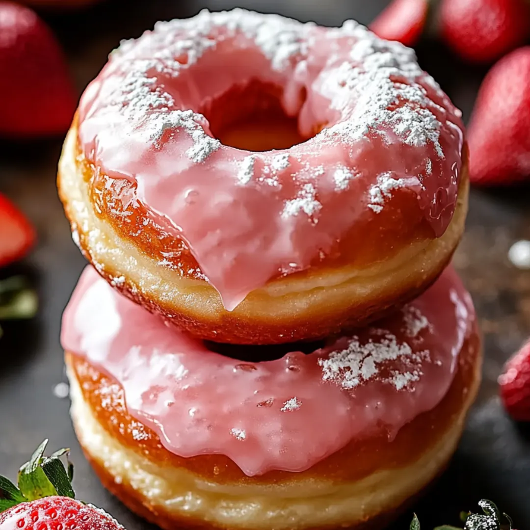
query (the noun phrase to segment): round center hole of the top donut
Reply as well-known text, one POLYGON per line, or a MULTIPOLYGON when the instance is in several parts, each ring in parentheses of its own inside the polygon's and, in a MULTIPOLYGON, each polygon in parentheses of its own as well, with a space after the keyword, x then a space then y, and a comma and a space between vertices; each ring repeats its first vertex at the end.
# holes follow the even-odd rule
MULTIPOLYGON (((234 85, 208 101, 200 112, 207 118, 214 137, 226 146, 254 152, 288 149, 310 137, 302 136, 298 117, 287 115, 281 98, 280 87, 251 81, 234 85)), ((305 91, 300 98, 302 107, 305 91)))

